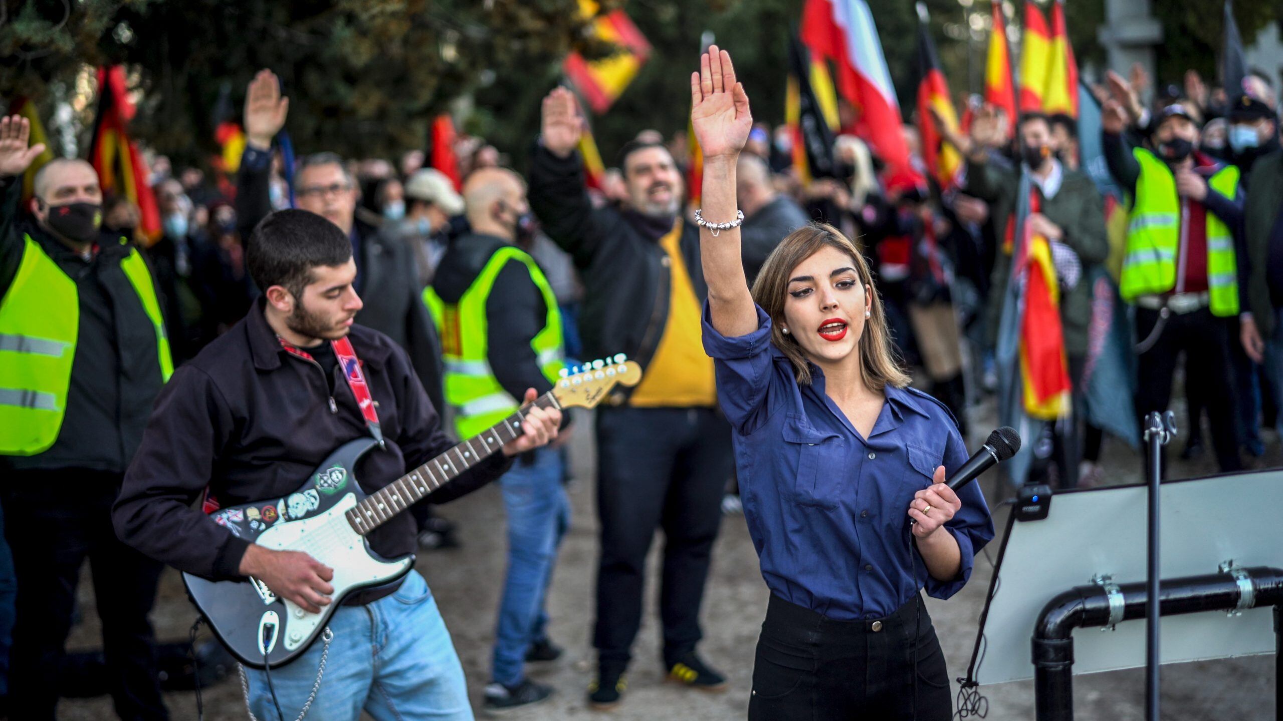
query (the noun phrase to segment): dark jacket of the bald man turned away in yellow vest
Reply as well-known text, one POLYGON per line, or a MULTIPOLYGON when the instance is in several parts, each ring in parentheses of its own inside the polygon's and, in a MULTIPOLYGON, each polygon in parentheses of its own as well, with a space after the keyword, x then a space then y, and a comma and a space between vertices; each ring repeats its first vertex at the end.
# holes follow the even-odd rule
MULTIPOLYGON (((508 241, 493 235, 467 233, 455 239, 436 267, 432 289, 445 303, 458 303, 490 257, 507 245, 508 241)), ((486 298, 485 314, 486 355, 503 390, 517 399, 529 387, 539 393, 552 390, 553 384, 544 377, 530 346, 548 322, 548 307, 525 263, 504 263, 486 298)))

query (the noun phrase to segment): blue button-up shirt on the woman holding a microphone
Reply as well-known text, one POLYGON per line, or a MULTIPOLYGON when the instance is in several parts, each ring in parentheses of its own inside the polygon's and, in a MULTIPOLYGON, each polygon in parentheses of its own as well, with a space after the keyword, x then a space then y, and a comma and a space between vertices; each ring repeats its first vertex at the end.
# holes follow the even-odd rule
POLYGON ((962 556, 949 581, 926 572, 907 514, 937 466, 952 473, 967 459, 953 417, 924 393, 888 385, 878 422, 861 437, 825 394, 820 368, 812 364, 811 385, 799 385, 761 308, 757 319, 756 331, 726 337, 706 305, 703 339, 735 428, 744 518, 767 588, 840 621, 889 616, 922 588, 935 598, 957 593, 993 538, 979 486, 958 491, 962 509, 944 526, 962 556))

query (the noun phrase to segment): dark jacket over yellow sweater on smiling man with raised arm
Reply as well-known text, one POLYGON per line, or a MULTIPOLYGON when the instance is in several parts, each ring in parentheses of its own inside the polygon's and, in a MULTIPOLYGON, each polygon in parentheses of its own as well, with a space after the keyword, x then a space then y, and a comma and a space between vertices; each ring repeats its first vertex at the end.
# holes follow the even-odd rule
MULTIPOLYGON (((671 277, 659 239, 676 218, 593 208, 579 153, 558 158, 543 146, 535 149, 531 163, 530 207, 548 236, 571 254, 584 280, 579 318, 584 354, 604 358, 624 353, 645 368, 668 319, 671 277)), ((694 223, 683 221, 680 248, 695 298, 703 303, 708 286, 694 223)))

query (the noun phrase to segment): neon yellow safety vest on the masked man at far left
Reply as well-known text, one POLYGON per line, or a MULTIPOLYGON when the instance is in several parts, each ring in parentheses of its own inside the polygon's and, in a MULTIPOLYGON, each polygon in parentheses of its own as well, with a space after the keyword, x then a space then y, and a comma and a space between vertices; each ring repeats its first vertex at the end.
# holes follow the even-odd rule
MULTIPOLYGON (((121 269, 157 326, 158 360, 168 380, 173 359, 151 275, 137 250, 121 269)), ((78 334, 76 282, 27 236, 18 272, 0 299, 0 454, 35 455, 58 440, 78 334)))

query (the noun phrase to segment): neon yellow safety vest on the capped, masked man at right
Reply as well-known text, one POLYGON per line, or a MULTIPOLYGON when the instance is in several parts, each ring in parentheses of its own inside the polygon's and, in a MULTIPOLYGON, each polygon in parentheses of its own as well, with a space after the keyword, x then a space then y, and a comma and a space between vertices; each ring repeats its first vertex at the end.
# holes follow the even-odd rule
MULTIPOLYGON (((1120 293, 1124 300, 1141 295, 1171 293, 1177 287, 1177 254, 1180 244, 1180 198, 1175 177, 1166 163, 1148 150, 1132 151, 1141 165, 1135 183, 1126 255, 1123 259, 1120 293)), ((1227 165, 1207 185, 1233 199, 1238 189, 1238 168, 1227 165)), ((1238 314, 1238 278, 1234 266, 1234 241, 1229 227, 1207 210, 1207 290, 1215 316, 1238 314)))

